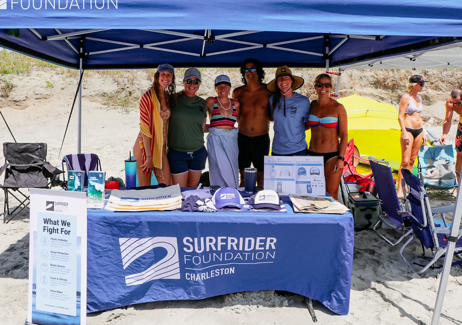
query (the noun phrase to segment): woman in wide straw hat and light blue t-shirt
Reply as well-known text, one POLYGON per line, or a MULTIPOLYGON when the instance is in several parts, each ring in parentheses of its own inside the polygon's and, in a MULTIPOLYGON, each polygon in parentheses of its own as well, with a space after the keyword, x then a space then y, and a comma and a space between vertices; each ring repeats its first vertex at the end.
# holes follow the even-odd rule
POLYGON ((283 65, 267 85, 274 93, 269 98, 271 120, 274 120, 273 156, 306 156, 305 130, 308 129, 310 100, 295 92, 303 84, 302 77, 292 75, 289 67, 283 65))

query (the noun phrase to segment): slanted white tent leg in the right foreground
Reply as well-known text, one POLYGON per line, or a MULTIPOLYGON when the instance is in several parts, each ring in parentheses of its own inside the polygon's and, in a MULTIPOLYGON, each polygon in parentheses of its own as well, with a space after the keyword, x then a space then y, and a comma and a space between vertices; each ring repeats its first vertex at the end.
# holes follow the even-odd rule
POLYGON ((441 315, 441 309, 443 309, 444 295, 446 293, 446 287, 448 285, 449 274, 451 271, 452 257, 454 256, 454 248, 456 247, 456 241, 459 238, 459 227, 461 224, 462 217, 462 195, 460 194, 461 186, 457 188, 456 207, 454 209, 454 216, 452 219, 452 225, 449 235, 449 244, 444 257, 443 271, 441 272, 441 280, 439 282, 438 294, 436 296, 435 309, 433 310, 433 317, 431 325, 438 325, 439 318, 441 315))

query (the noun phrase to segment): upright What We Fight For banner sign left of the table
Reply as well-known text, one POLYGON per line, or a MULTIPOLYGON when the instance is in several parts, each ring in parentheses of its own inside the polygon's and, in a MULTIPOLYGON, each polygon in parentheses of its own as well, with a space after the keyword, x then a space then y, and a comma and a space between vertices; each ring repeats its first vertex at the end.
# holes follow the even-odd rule
POLYGON ((54 189, 29 191, 27 322, 85 325, 86 195, 54 189))

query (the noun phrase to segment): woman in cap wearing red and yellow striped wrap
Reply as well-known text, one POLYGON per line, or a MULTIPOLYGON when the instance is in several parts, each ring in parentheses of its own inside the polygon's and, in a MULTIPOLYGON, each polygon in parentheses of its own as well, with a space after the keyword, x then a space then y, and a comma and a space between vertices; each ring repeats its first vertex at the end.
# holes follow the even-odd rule
POLYGON ((158 183, 171 184, 167 160, 167 130, 170 107, 175 102, 173 66, 160 64, 151 88, 140 99, 140 133, 133 147, 140 186, 151 185, 152 172, 158 183))

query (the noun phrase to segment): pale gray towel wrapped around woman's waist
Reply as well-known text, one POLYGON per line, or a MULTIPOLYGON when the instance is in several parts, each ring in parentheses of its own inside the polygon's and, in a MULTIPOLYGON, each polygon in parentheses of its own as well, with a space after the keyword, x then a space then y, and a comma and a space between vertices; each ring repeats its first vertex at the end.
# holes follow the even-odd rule
POLYGON ((208 129, 207 151, 210 185, 239 187, 237 128, 208 129))

